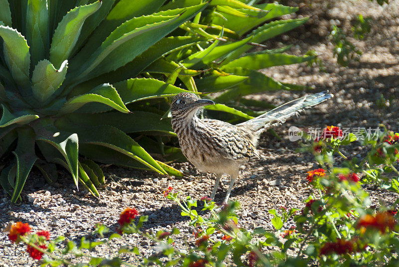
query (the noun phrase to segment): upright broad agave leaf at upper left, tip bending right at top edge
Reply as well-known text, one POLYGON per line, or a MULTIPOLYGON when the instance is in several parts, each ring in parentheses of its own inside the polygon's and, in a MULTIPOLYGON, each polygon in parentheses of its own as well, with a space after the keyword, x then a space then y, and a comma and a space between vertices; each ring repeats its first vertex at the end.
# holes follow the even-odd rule
POLYGON ((85 19, 97 11, 100 6, 101 1, 77 6, 62 18, 54 31, 50 47, 50 61, 56 69, 59 69, 62 62, 71 54, 85 19))

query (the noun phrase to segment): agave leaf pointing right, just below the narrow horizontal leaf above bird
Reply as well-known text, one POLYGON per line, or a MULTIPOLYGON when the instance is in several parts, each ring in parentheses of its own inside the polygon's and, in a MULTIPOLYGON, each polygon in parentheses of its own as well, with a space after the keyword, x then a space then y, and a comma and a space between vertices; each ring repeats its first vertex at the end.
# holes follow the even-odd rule
POLYGON ((241 96, 272 90, 289 90, 288 87, 282 85, 276 80, 255 70, 243 68, 226 68, 224 71, 237 75, 247 75, 249 79, 238 84, 235 88, 231 88, 222 95, 215 98, 216 102, 226 103, 237 99, 241 96))

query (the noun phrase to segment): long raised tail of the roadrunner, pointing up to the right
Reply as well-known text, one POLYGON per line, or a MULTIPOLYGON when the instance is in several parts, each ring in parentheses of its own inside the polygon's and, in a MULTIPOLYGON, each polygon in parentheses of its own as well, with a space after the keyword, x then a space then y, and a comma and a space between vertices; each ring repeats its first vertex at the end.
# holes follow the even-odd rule
POLYGON ((243 126, 252 132, 261 133, 268 128, 284 123, 288 118, 298 115, 301 111, 314 107, 333 96, 328 91, 324 91, 301 97, 237 126, 243 126))

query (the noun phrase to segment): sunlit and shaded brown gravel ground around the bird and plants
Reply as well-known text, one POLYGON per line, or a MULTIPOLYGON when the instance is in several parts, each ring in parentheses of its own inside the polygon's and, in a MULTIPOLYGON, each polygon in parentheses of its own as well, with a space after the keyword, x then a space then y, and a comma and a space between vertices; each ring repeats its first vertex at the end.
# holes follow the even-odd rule
MULTIPOLYGON (((298 5, 298 1, 285 1, 284 4, 298 5)), ((311 19, 300 29, 279 36, 266 45, 270 48, 294 44, 290 53, 303 54, 314 49, 326 67, 325 72, 305 64, 279 66, 263 70, 275 79, 303 85, 314 85, 317 91, 329 89, 335 98, 307 111, 298 119, 290 120, 278 127, 276 132, 282 140, 264 134, 259 142, 260 159, 248 162, 241 168, 239 179, 231 193, 232 200, 238 200, 239 226, 247 229, 264 227, 272 230, 268 209, 285 206, 302 208, 302 200, 311 193, 305 182, 306 171, 315 165, 310 154, 297 153, 296 142, 288 139, 290 126, 300 128, 341 127, 376 128, 385 124, 393 131, 399 131, 399 1, 390 5, 378 6, 368 0, 354 1, 305 1, 299 4, 296 16, 310 16, 311 19), (355 43, 364 51, 360 62, 348 68, 337 65, 333 55, 333 45, 326 37, 332 23, 348 29, 349 22, 358 13, 372 16, 375 23, 371 34, 355 43), (310 32, 310 33, 309 33, 310 32)), ((249 96, 265 100, 275 105, 305 95, 305 92, 275 92, 249 96)), ((366 151, 353 145, 348 154, 366 151)), ((146 229, 167 230, 178 227, 182 233, 176 246, 182 250, 194 245, 192 230, 187 218, 180 215, 180 209, 162 192, 172 186, 184 195, 195 199, 210 195, 213 175, 200 173, 189 163, 180 163, 176 168, 190 175, 181 179, 166 178, 152 172, 137 171, 116 166, 104 167, 107 185, 101 189, 101 199, 96 200, 86 191, 77 192, 68 173, 60 171, 57 187, 49 186, 39 173, 33 171, 22 192, 22 203, 9 202, 9 197, 0 192, 0 229, 10 221, 27 222, 33 230, 43 229, 51 235, 64 235, 76 241, 82 236, 91 237, 96 223, 106 224, 115 230, 118 215, 127 206, 136 207, 140 214, 149 215, 146 229)), ((222 200, 224 189, 216 194, 222 200)), ((393 193, 368 189, 373 204, 393 203, 397 196, 393 193)), ((284 225, 288 229, 293 222, 284 225)), ((93 239, 97 237, 91 237, 93 239)), ((112 242, 110 247, 101 246, 93 251, 97 255, 110 255, 121 245, 138 246, 144 255, 155 252, 155 246, 138 236, 124 236, 112 242)), ((37 266, 24 252, 22 245, 12 245, 6 233, 0 233, 0 267, 37 266)), ((136 256, 127 255, 124 260, 134 262, 136 256)))

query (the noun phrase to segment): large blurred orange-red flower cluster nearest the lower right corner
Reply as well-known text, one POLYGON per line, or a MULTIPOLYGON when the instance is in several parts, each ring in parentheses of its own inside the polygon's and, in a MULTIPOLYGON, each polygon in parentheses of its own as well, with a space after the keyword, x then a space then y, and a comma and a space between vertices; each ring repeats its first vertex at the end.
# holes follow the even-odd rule
POLYGON ((377 213, 375 216, 367 214, 360 218, 357 228, 374 228, 380 230, 382 233, 387 231, 387 228, 394 230, 395 220, 392 214, 388 211, 377 213))

